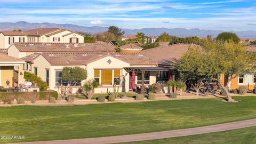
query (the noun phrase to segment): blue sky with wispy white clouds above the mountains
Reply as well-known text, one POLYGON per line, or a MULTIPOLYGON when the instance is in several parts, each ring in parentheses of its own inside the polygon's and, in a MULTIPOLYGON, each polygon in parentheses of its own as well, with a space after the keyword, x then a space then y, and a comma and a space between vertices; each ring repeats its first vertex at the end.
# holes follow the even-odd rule
POLYGON ((0 22, 256 30, 256 0, 0 0, 0 22))

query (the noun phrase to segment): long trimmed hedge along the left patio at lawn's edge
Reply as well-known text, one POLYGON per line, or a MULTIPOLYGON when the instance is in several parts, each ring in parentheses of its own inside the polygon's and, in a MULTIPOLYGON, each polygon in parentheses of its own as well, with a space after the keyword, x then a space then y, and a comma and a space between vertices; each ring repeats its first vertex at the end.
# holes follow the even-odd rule
MULTIPOLYGON (((58 99, 58 92, 57 91, 42 91, 42 92, 0 92, 0 100, 4 97, 11 99, 17 99, 18 97, 23 98, 24 100, 49 100, 50 97, 54 97, 58 99)), ((2 100, 3 101, 3 100, 2 100)))

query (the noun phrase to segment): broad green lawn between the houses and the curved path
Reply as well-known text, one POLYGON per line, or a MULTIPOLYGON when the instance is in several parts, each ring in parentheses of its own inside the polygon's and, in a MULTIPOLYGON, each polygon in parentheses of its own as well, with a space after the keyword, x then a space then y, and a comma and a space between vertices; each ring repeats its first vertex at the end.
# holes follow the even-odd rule
POLYGON ((185 129, 256 118, 256 97, 103 103, 70 107, 15 106, 0 108, 0 135, 25 135, 42 141, 106 137, 185 129))

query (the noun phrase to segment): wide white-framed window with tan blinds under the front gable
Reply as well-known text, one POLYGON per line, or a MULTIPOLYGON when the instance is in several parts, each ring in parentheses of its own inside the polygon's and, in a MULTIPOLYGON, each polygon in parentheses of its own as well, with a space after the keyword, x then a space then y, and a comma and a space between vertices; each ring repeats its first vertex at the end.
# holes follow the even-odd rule
POLYGON ((120 85, 121 69, 94 69, 94 79, 101 85, 120 85))

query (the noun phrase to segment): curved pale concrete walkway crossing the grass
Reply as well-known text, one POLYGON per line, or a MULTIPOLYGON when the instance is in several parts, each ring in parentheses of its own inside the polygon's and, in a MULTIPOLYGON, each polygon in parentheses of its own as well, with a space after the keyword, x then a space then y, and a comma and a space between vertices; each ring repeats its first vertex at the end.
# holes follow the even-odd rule
MULTIPOLYGON (((162 132, 151 132, 131 135, 118 135, 113 137, 101 137, 101 138, 87 138, 87 139, 72 139, 72 140, 55 140, 55 141, 38 141, 38 142, 24 142, 33 144, 84 144, 84 143, 119 143, 119 142, 131 142, 131 141, 143 141, 143 140, 155 140, 182 137, 187 135, 221 132, 228 130, 241 129, 245 127, 256 126, 256 119, 250 119, 246 121, 225 123, 211 126, 195 127, 190 129, 162 131, 162 132)), ((43 136, 43 135, 42 135, 43 136)), ((23 144, 24 144, 23 143, 23 144)))

